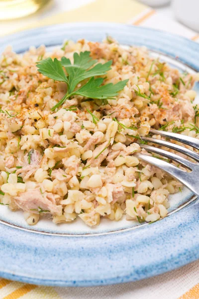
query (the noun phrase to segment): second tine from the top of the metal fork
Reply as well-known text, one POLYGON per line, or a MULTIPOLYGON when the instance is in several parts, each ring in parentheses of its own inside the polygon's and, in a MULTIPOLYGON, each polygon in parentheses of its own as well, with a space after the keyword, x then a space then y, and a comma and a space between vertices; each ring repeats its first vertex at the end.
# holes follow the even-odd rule
POLYGON ((187 156, 195 159, 197 162, 199 162, 199 154, 191 149, 187 149, 182 146, 173 144, 171 142, 167 142, 167 141, 159 140, 159 139, 155 139, 155 138, 150 138, 150 137, 142 137, 142 140, 151 142, 151 143, 155 143, 157 145, 164 146, 169 149, 177 150, 177 151, 182 152, 183 154, 186 154, 187 156))

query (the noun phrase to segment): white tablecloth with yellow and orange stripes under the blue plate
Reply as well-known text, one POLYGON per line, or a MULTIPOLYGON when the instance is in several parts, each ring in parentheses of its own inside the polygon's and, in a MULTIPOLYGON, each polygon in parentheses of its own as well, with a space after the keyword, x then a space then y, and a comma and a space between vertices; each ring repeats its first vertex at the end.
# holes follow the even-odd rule
MULTIPOLYGON (((169 31, 199 42, 199 34, 172 21, 136 0, 96 0, 26 25, 81 21, 127 22, 169 31)), ((19 26, 16 26, 18 29, 19 26)), ((5 33, 11 32, 3 30, 5 33)), ((1 31, 1 35, 3 33, 1 31)), ((12 31, 13 32, 13 31, 12 31)), ((3 258, 3 257, 1 257, 3 258)), ((30 269, 31 271, 31 269, 30 269)), ((93 287, 58 288, 28 285, 0 279, 0 299, 199 299, 199 261, 181 269, 135 283, 93 287)))

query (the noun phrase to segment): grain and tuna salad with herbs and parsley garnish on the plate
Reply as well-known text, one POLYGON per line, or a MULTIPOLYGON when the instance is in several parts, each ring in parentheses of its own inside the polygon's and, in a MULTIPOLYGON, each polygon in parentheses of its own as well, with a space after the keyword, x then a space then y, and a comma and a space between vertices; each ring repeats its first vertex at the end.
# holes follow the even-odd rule
POLYGON ((22 209, 29 225, 44 214, 89 226, 165 217, 168 195, 183 186, 134 154, 146 153, 139 144, 150 128, 199 138, 198 79, 111 37, 69 40, 53 52, 8 46, 0 57, 0 204, 22 209))

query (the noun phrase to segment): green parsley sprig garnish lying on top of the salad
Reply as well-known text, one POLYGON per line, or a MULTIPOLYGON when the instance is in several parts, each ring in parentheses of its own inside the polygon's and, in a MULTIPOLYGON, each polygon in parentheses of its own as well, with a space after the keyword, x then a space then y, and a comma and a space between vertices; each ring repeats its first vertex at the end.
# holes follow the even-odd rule
POLYGON ((102 85, 104 79, 95 78, 95 76, 105 75, 111 69, 112 60, 104 64, 97 63, 97 60, 90 57, 90 53, 89 51, 74 53, 74 64, 71 64, 70 59, 66 57, 62 57, 61 61, 48 57, 37 64, 41 74, 53 80, 65 82, 68 86, 66 95, 51 109, 52 111, 74 95, 101 100, 115 97, 128 82, 127 79, 114 85, 112 83, 102 85), (65 74, 63 67, 68 75, 65 74), (89 81, 76 89, 77 85, 85 79, 89 81))

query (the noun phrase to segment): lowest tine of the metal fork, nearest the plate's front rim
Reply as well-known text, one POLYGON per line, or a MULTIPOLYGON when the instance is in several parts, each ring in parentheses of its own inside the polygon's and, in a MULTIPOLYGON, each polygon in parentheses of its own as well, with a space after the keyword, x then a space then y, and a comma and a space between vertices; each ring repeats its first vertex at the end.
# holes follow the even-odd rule
POLYGON ((159 160, 155 157, 152 157, 152 156, 144 154, 144 153, 137 152, 134 155, 137 158, 139 158, 145 162, 148 162, 148 163, 160 168, 161 170, 166 171, 167 173, 172 175, 174 178, 178 179, 180 182, 187 185, 187 181, 188 181, 187 176, 190 174, 187 171, 179 169, 178 167, 176 167, 172 164, 169 164, 166 161, 159 160))

